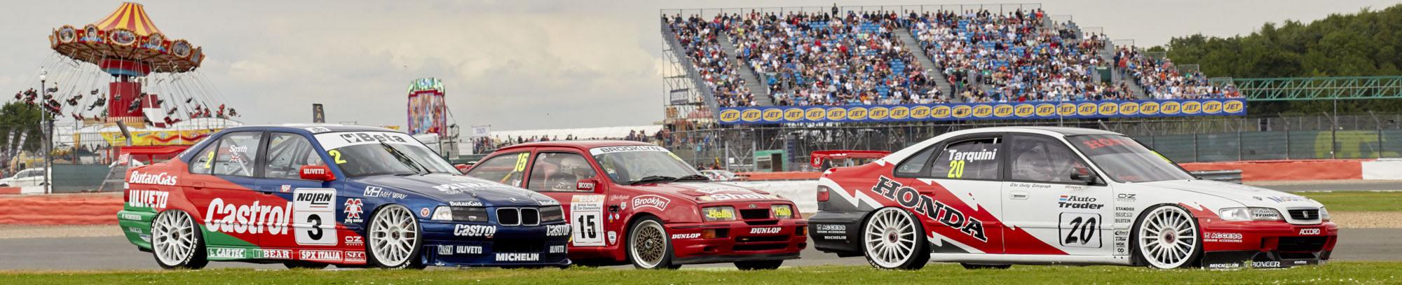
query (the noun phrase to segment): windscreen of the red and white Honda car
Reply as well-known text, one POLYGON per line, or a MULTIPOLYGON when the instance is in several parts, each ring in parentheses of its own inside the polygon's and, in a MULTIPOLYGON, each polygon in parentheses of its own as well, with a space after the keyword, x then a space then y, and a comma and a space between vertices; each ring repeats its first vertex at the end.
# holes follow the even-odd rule
POLYGON ((1074 136, 1071 145, 1117 182, 1187 180, 1192 175, 1124 136, 1074 136))

